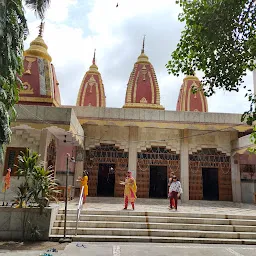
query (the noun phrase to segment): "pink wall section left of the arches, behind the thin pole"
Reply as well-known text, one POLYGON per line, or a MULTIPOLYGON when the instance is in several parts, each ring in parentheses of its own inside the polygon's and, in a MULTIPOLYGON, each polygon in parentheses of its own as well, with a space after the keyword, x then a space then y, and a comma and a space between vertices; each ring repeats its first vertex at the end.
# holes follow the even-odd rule
MULTIPOLYGON (((73 156, 75 157, 75 147, 73 146, 58 146, 57 148, 57 159, 56 159, 56 171, 57 172, 63 172, 67 170, 66 163, 67 163, 67 153, 72 156, 72 150, 73 150, 73 156), (73 150, 74 149, 74 150, 73 150)), ((75 163, 69 162, 69 170, 71 172, 75 171, 75 163)))

